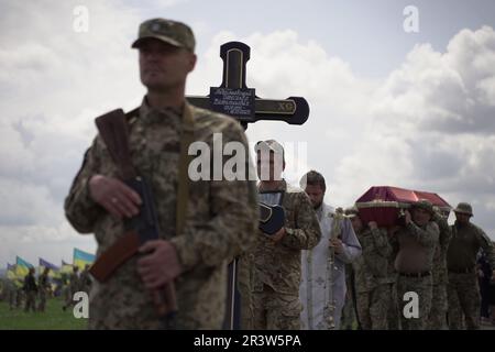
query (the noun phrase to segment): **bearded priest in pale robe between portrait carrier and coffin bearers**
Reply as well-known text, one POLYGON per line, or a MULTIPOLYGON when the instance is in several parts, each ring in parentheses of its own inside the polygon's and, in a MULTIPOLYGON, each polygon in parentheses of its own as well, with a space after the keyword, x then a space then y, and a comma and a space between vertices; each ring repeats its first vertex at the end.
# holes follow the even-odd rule
POLYGON ((300 186, 311 200, 321 230, 318 245, 301 255, 301 328, 339 329, 346 292, 344 265, 361 255, 361 244, 351 221, 323 202, 327 187, 321 174, 310 170, 300 186))

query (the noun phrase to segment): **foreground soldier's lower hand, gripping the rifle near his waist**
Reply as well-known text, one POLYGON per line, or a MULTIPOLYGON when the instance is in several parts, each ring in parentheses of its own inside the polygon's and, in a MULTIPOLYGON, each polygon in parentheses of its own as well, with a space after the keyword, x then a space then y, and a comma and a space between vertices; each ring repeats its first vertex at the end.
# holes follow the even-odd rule
POLYGON ((182 272, 177 251, 168 241, 147 241, 140 253, 148 253, 138 261, 138 273, 148 289, 164 286, 182 272))

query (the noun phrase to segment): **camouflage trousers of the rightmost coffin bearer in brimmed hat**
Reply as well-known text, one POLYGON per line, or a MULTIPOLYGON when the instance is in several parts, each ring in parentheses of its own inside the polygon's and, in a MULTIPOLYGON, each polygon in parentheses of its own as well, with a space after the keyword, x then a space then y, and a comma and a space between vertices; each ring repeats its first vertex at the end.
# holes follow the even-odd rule
POLYGON ((455 274, 449 272, 447 286, 449 301, 449 329, 460 330, 463 326, 469 330, 480 329, 481 297, 477 277, 474 273, 455 274))

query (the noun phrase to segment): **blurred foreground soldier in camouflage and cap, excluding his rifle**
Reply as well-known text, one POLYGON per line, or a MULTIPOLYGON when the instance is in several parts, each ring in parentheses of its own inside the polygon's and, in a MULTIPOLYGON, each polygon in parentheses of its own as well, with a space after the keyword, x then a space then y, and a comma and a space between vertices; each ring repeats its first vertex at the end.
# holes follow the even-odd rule
MULTIPOLYGON (((216 160, 215 135, 221 151, 222 143, 241 145, 242 166, 249 167, 246 138, 234 119, 186 101, 186 78, 196 65, 188 25, 145 21, 132 47, 139 51, 141 81, 147 89, 141 107, 124 117, 127 170, 132 168, 138 177, 122 179, 122 160, 109 154, 100 130, 65 201, 74 228, 95 233, 98 252, 91 270, 97 265, 109 270, 106 263, 114 258, 110 251, 129 250, 122 240, 139 237, 128 257, 112 264, 111 275, 94 282, 89 328, 220 329, 226 262, 253 243, 258 208, 253 182, 217 178, 217 173, 213 177, 209 166, 211 161, 213 168, 220 165, 223 170, 229 161, 224 155, 216 160), (200 156, 208 158, 208 170, 201 165, 201 177, 193 182, 188 152, 194 142, 200 156), (144 180, 146 193, 130 187, 144 180), (134 220, 150 218, 153 219, 152 240, 133 226, 134 220)), ((114 152, 124 155, 122 148, 114 152)))

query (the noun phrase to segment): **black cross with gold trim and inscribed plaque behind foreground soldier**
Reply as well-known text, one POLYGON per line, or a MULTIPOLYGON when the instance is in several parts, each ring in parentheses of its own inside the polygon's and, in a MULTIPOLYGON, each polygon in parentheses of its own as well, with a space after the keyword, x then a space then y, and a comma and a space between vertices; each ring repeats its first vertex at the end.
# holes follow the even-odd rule
POLYGON ((187 96, 187 100, 199 108, 230 114, 244 128, 260 120, 278 120, 289 124, 302 124, 308 120, 309 106, 305 98, 289 97, 284 100, 262 99, 255 90, 245 86, 245 64, 251 48, 241 42, 229 42, 220 46, 223 61, 223 77, 220 87, 211 87, 206 97, 187 96))

